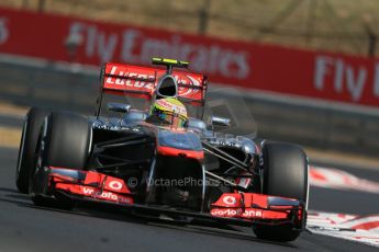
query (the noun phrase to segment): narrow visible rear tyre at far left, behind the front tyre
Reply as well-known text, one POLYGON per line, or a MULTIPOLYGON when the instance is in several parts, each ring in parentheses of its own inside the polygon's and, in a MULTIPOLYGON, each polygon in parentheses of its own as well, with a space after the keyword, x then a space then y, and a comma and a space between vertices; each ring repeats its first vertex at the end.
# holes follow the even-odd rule
POLYGON ((40 129, 48 110, 32 107, 29 110, 22 128, 15 185, 20 193, 29 193, 29 173, 34 164, 34 152, 37 146, 40 129))

